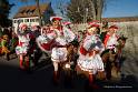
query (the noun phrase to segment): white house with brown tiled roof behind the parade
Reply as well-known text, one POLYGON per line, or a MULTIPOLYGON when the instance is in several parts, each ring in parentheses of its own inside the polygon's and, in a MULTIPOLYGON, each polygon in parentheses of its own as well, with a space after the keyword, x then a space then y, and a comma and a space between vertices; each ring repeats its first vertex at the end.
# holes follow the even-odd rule
MULTIPOLYGON (((40 12, 42 24, 49 23, 50 17, 55 16, 51 3, 40 4, 40 12)), ((39 21, 37 6, 21 7, 12 19, 12 27, 17 30, 19 23, 26 23, 29 27, 39 25, 39 21)))

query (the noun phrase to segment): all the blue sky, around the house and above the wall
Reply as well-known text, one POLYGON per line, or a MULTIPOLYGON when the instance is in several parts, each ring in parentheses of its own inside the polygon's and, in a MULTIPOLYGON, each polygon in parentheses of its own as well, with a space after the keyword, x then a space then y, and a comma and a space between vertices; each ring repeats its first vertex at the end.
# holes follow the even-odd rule
MULTIPOLYGON (((18 9, 22 6, 34 4, 34 0, 29 0, 28 3, 20 2, 20 0, 9 0, 10 3, 16 3, 11 9, 9 18, 12 18, 18 9)), ((58 14, 57 2, 58 0, 40 0, 40 3, 51 1, 55 12, 58 14)), ((69 0, 60 0, 67 2, 69 0)), ((117 17, 138 17, 138 0, 108 0, 106 9, 103 10, 103 18, 117 18, 117 17)))

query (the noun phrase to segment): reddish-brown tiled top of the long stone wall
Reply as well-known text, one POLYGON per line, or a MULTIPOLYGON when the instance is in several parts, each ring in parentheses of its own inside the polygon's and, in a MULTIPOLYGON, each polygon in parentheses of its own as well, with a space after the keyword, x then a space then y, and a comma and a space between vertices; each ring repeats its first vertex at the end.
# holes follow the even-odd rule
POLYGON ((122 18, 102 18, 108 22, 128 22, 128 21, 138 21, 138 17, 122 17, 122 18))

